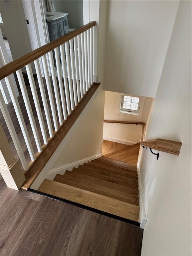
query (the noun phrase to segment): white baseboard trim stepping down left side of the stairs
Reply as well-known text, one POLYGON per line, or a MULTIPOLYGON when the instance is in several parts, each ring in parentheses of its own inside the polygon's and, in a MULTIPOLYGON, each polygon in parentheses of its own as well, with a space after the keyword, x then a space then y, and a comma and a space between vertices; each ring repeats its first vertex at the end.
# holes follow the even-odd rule
POLYGON ((95 156, 88 157, 88 158, 84 158, 84 159, 82 159, 80 161, 77 161, 77 162, 74 162, 72 164, 63 165, 63 166, 61 166, 59 168, 56 168, 54 170, 50 170, 47 175, 57 173, 57 172, 60 172, 62 170, 63 171, 66 171, 66 170, 71 171, 74 167, 78 167, 79 165, 83 165, 84 163, 87 163, 88 161, 94 160, 94 159, 96 159, 98 157, 101 157, 101 156, 102 156, 102 153, 98 154, 98 155, 95 155, 95 156))

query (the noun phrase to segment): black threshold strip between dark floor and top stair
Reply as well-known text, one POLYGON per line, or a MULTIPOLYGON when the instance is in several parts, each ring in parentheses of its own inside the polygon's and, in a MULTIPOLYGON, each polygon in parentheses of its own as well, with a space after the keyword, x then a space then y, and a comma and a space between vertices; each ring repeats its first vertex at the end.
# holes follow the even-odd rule
POLYGON ((110 218, 113 218, 113 219, 116 219, 116 220, 120 220, 120 221, 129 223, 129 224, 138 226, 138 227, 140 226, 140 223, 137 222, 137 221, 128 220, 128 219, 125 219, 125 218, 116 216, 116 215, 114 215, 114 214, 110 214, 110 213, 107 213, 107 212, 103 212, 103 211, 100 211, 100 210, 91 208, 91 207, 89 207, 89 206, 86 206, 86 205, 83 205, 83 204, 78 204, 78 203, 75 203, 75 202, 72 202, 72 201, 69 201, 69 200, 66 200, 66 199, 57 197, 57 196, 52 196, 52 195, 49 195, 49 194, 46 194, 46 193, 37 191, 37 190, 32 189, 32 188, 28 188, 28 191, 31 191, 31 192, 33 192, 33 193, 36 193, 36 194, 39 194, 39 195, 42 195, 42 196, 46 196, 46 197, 49 197, 49 198, 52 198, 52 199, 55 199, 55 200, 58 200, 58 201, 61 201, 61 202, 65 202, 65 203, 68 203, 68 204, 72 204, 72 205, 74 205, 74 206, 83 208, 83 209, 85 209, 85 210, 89 210, 89 211, 91 211, 91 212, 96 212, 96 213, 98 213, 98 214, 101 214, 101 215, 104 215, 104 216, 107 216, 107 217, 110 217, 110 218))

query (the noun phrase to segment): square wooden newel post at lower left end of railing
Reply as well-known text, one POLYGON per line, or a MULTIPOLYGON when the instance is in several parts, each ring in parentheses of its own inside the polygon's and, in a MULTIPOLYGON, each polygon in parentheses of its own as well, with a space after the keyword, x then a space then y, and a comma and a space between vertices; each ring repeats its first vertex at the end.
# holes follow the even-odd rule
POLYGON ((18 159, 13 156, 11 147, 0 124, 0 173, 9 188, 19 190, 25 181, 25 175, 18 159))

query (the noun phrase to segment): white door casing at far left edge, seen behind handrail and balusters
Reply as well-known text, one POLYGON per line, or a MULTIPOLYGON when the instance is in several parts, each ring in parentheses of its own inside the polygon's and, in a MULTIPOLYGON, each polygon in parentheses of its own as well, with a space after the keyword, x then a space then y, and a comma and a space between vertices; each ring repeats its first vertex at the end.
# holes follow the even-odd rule
MULTIPOLYGON (((7 64, 7 63, 9 63, 9 62, 10 61, 9 61, 8 53, 7 53, 5 42, 4 42, 4 39, 3 39, 3 35, 2 35, 1 29, 0 29, 0 67, 5 65, 5 64, 7 64)), ((13 84, 13 87, 15 89, 15 93, 16 93, 16 95, 18 97, 19 96, 19 92, 18 92, 18 89, 17 89, 17 85, 16 85, 16 82, 15 82, 14 75, 11 74, 10 78, 12 80, 12 84, 13 84)), ((3 98, 5 100, 5 103, 6 104, 10 103, 11 102, 11 97, 10 97, 10 94, 9 94, 9 91, 8 91, 5 79, 2 79, 0 81, 0 90, 1 90, 1 92, 3 94, 3 98)))

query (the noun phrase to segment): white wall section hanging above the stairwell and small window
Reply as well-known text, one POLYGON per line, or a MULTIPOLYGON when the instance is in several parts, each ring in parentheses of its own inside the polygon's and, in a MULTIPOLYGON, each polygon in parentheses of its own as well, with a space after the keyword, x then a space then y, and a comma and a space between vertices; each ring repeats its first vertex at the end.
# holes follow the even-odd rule
POLYGON ((155 97, 178 1, 107 1, 107 91, 155 97))

